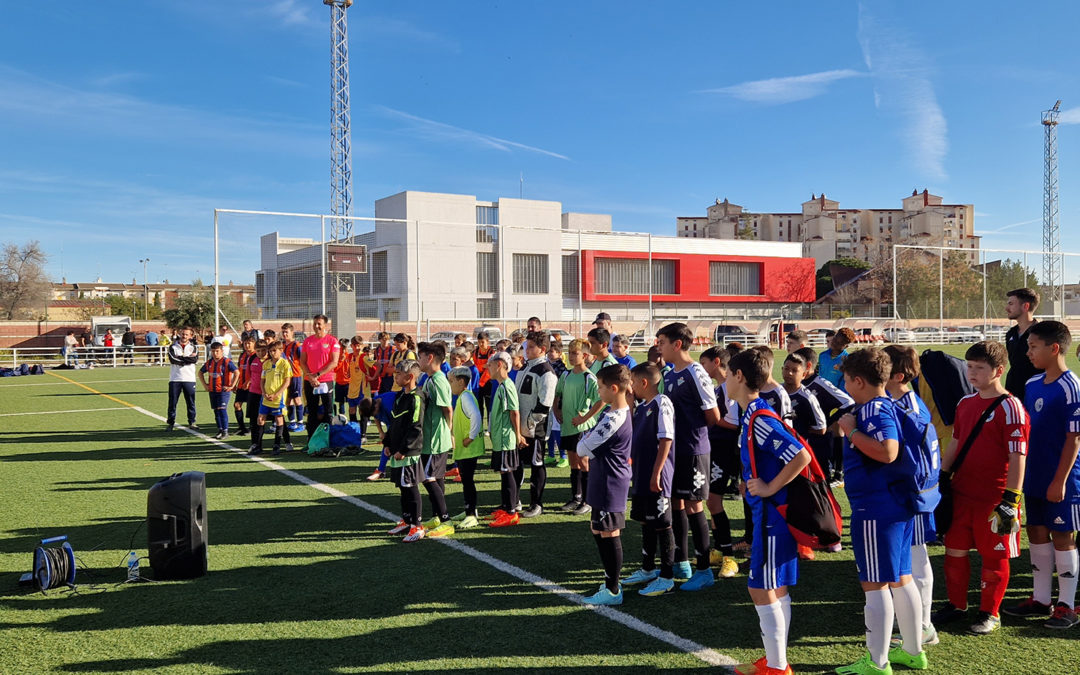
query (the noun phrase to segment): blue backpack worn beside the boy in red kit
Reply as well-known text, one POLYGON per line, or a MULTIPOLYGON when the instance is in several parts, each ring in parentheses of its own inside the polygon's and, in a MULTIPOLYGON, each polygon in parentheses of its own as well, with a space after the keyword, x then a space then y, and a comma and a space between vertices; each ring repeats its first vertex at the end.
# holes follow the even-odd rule
POLYGON ((932 423, 926 423, 907 410, 900 413, 900 457, 887 464, 895 475, 889 491, 915 513, 933 513, 941 502, 937 482, 941 475, 941 444, 932 423), (913 443, 918 438, 918 443, 913 443))

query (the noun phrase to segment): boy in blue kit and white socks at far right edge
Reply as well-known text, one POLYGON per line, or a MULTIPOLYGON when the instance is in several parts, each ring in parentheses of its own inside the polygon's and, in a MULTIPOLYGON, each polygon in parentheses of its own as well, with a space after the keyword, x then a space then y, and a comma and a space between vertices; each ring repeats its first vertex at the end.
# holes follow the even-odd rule
POLYGON ((1027 509, 1031 597, 1005 609, 1013 617, 1051 613, 1051 590, 1057 567, 1057 605, 1049 629, 1070 629, 1076 612, 1076 531, 1080 529, 1080 378, 1065 366, 1072 336, 1057 321, 1040 321, 1028 329, 1027 357, 1044 370, 1027 381, 1024 407, 1031 418, 1024 505, 1027 509))

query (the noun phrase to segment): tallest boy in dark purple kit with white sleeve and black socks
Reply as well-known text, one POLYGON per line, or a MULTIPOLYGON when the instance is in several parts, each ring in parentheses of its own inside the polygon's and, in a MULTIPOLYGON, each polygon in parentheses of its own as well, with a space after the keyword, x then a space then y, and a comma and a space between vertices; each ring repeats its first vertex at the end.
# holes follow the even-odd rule
POLYGON ((708 521, 704 501, 708 498, 708 427, 720 421, 716 392, 705 368, 690 356, 693 333, 685 323, 671 323, 657 332, 657 347, 672 369, 664 374, 664 395, 675 407, 675 474, 672 484, 672 530, 675 534, 675 579, 686 581, 680 591, 699 591, 713 585, 708 568, 708 521), (698 554, 691 573, 687 530, 693 534, 698 554))

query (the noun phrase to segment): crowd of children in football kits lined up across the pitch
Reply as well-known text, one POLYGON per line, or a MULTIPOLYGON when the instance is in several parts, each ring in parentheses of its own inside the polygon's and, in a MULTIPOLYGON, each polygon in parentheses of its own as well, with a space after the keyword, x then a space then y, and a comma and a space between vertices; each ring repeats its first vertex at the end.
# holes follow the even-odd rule
MULTIPOLYGON (((588 339, 566 346, 540 330, 539 320, 536 327, 494 345, 484 334, 475 345, 464 335, 454 345, 416 345, 404 334, 391 345, 384 333, 375 348, 360 337, 342 340, 335 407, 365 429, 376 421, 382 458, 369 480, 382 478, 389 465, 401 494, 401 522, 391 535, 413 542, 482 524, 517 525, 544 513, 548 467, 568 465, 569 499, 559 511, 589 516, 604 570, 586 604, 621 604, 624 586, 640 586, 643 596, 701 591, 715 582, 712 566, 720 578, 737 576, 742 550, 766 654, 737 672, 791 673, 791 590, 799 561, 813 559, 814 551, 796 543, 782 507, 792 481, 814 462, 832 488, 847 492, 852 578, 864 592, 866 652, 838 673, 891 673, 893 664, 923 670, 926 647, 939 640, 935 625, 967 621, 972 634, 993 632, 1009 559, 1020 554, 1022 496, 1034 589, 1004 611, 1042 617, 1054 629, 1078 623, 1080 378, 1065 366, 1071 337, 1064 324, 1028 328, 1027 355, 1038 374, 1023 400, 1001 383, 1004 346, 983 341, 968 350, 975 393, 960 401, 951 441, 940 453, 930 410, 912 388, 920 364, 909 347, 849 352, 852 336, 840 330, 819 354, 796 330, 787 336, 778 382, 768 347, 713 347, 696 361, 693 336, 681 323, 663 326, 639 364, 599 320, 588 339), (488 468, 499 475, 500 499, 482 513, 476 475, 488 468), (948 498, 944 521, 934 518, 939 472, 948 498), (451 476, 461 484, 457 515, 446 492, 451 476), (421 485, 432 510, 427 522, 421 485), (738 542, 725 511, 735 486, 744 500, 738 542), (640 566, 623 578, 627 503, 643 543, 640 566), (932 611, 927 544, 936 540, 945 543, 947 602, 932 611), (982 557, 973 617, 970 550, 982 557)), ((302 347, 289 348, 291 330, 282 327, 283 340, 244 335, 239 367, 214 346, 200 369, 217 437, 229 433, 235 391, 237 422, 240 433, 249 428, 252 455, 262 451, 266 421, 273 422, 278 454, 292 449, 289 431, 302 419, 303 401, 293 395, 302 347)))

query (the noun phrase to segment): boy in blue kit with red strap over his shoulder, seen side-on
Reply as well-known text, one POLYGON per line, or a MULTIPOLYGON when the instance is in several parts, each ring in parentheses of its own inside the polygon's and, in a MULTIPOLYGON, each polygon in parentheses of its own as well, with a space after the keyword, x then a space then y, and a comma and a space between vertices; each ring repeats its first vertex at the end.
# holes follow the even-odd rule
POLYGON ((792 672, 787 664, 788 586, 798 582, 798 551, 777 508, 787 501, 786 485, 810 463, 810 453, 758 394, 770 369, 768 357, 754 349, 740 352, 728 364, 727 392, 743 410, 739 440, 743 491, 760 530, 751 549, 746 588, 757 610, 765 658, 740 665, 735 669, 740 675, 792 672))

